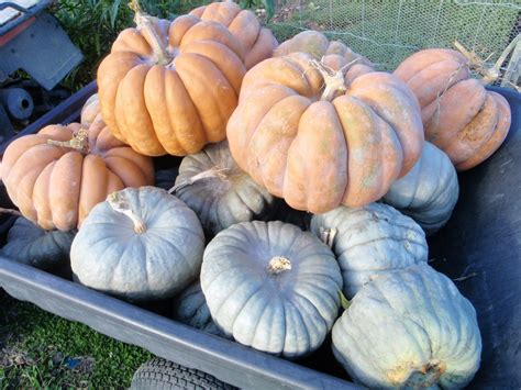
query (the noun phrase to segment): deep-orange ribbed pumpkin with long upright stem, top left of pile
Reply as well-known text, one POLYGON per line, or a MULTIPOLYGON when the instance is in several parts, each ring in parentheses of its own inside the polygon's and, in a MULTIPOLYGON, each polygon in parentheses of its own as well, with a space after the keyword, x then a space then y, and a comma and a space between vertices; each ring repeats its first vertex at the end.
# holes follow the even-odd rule
POLYGON ((111 132, 147 156, 185 156, 222 141, 246 71, 241 43, 192 15, 170 23, 137 10, 135 20, 98 68, 111 132))

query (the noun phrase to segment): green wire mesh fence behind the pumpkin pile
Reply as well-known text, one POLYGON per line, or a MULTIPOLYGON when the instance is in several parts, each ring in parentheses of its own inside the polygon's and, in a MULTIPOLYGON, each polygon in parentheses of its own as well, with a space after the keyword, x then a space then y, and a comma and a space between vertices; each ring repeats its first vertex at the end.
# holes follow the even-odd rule
MULTIPOLYGON (((520 33, 521 1, 281 0, 269 24, 279 41, 302 30, 322 31, 381 70, 421 48, 453 48, 454 41, 494 64, 520 33)), ((509 83, 519 78, 520 46, 501 67, 505 77, 510 65, 509 83)))

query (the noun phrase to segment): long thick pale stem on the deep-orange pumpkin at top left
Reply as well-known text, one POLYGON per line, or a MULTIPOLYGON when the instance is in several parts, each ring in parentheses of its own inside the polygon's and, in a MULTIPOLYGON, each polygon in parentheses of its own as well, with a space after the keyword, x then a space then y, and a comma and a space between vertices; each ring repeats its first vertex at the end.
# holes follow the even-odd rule
POLYGON ((168 53, 164 40, 160 38, 155 25, 157 18, 148 15, 140 5, 138 0, 131 0, 129 8, 134 11, 134 23, 137 30, 143 34, 143 37, 151 45, 156 65, 167 65, 171 62, 171 56, 168 53))

